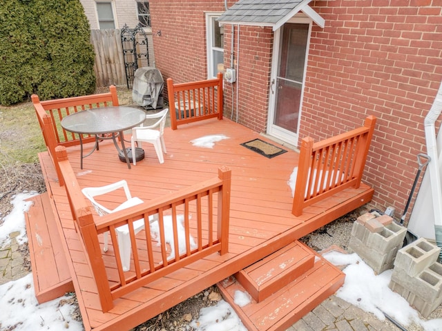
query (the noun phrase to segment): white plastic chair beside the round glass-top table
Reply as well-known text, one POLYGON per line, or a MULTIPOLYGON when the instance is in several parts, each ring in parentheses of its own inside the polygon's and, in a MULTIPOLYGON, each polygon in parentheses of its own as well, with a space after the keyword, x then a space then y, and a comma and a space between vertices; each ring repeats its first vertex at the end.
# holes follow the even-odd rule
MULTIPOLYGON (((166 124, 167 112, 169 108, 163 109, 156 114, 146 114, 146 119, 158 119, 151 126, 137 126, 132 128, 132 138, 131 138, 131 148, 135 150, 135 141, 137 142, 137 147, 141 147, 141 142, 152 143, 155 147, 155 152, 157 152, 157 157, 160 163, 164 163, 164 154, 166 151, 166 144, 164 143, 164 125, 166 124), (157 129, 155 129, 157 128, 157 129)), ((135 157, 133 158, 133 165, 137 164, 135 157)))

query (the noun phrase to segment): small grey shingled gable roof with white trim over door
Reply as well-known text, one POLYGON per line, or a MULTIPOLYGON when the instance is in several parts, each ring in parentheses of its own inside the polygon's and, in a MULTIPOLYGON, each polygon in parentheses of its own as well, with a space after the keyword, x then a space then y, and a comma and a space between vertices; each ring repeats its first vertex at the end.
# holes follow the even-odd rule
POLYGON ((318 26, 324 28, 325 20, 309 6, 311 0, 239 0, 218 21, 221 24, 244 26, 271 26, 278 30, 298 12, 303 12, 318 26))

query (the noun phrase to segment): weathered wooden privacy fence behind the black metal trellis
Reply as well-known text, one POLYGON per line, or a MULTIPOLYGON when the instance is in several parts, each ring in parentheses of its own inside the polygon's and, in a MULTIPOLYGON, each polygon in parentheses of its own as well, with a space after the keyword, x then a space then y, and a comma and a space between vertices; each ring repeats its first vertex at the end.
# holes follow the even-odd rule
MULTIPOLYGON (((155 58, 153 55, 152 33, 148 34, 149 62, 153 66, 155 58)), ((126 86, 126 70, 122 48, 121 31, 115 30, 91 30, 90 43, 95 49, 95 76, 97 87, 102 86, 126 86)), ((140 61, 139 67, 147 66, 147 63, 140 61)))

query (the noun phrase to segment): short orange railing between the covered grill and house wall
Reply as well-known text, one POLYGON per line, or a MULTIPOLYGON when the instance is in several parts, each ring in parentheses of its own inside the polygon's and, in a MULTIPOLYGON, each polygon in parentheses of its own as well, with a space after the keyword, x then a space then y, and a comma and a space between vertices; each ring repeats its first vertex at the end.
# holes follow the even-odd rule
POLYGON ((222 73, 216 79, 174 84, 167 79, 171 128, 218 117, 222 119, 222 73))

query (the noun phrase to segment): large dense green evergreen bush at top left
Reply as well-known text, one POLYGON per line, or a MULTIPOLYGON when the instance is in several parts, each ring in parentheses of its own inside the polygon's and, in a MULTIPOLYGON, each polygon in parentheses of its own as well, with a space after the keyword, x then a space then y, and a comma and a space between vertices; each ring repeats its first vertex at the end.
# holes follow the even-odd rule
POLYGON ((95 90, 94 49, 79 0, 0 0, 0 104, 95 90))

